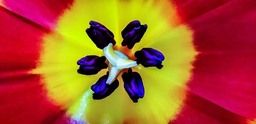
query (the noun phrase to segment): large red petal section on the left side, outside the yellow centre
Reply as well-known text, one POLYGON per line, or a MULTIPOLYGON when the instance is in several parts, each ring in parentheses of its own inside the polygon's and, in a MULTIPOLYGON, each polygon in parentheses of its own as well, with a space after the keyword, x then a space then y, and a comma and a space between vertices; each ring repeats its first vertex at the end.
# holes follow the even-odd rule
POLYGON ((60 107, 47 100, 40 76, 28 73, 36 67, 46 30, 3 7, 0 23, 0 123, 53 122, 60 107))

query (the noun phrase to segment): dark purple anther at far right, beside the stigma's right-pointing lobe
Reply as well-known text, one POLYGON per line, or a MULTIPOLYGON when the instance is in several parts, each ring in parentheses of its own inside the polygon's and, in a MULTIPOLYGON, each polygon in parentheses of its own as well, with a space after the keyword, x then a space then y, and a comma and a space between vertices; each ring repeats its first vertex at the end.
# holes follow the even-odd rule
POLYGON ((141 64, 144 67, 163 68, 162 61, 164 56, 160 51, 153 48, 143 48, 140 51, 136 51, 134 56, 137 58, 135 60, 137 64, 141 64))

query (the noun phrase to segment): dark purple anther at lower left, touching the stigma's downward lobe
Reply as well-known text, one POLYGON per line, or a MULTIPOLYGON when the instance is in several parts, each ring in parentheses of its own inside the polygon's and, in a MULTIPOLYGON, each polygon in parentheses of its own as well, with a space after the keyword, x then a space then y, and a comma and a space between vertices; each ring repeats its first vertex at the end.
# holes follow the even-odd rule
POLYGON ((91 89, 93 90, 93 99, 104 99, 107 96, 111 95, 116 88, 119 86, 119 82, 116 79, 111 83, 111 85, 106 84, 108 79, 108 72, 107 75, 104 75, 99 78, 99 80, 96 82, 96 84, 91 86, 91 89))

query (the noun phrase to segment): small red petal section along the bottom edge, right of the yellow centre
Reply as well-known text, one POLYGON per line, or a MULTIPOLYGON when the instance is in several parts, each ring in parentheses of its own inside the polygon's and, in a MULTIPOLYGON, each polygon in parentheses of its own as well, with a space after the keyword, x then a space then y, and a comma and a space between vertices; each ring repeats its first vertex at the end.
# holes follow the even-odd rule
POLYGON ((189 93, 180 114, 170 124, 241 124, 248 120, 189 93))

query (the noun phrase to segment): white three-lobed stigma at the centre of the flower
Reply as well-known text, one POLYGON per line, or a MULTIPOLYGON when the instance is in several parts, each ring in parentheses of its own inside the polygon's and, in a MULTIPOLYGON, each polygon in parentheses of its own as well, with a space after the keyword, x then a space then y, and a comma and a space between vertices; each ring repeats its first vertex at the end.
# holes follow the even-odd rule
POLYGON ((129 59, 128 56, 120 51, 113 50, 113 44, 109 43, 108 46, 103 48, 103 53, 108 59, 109 75, 106 84, 110 85, 125 68, 137 66, 137 62, 129 59))

